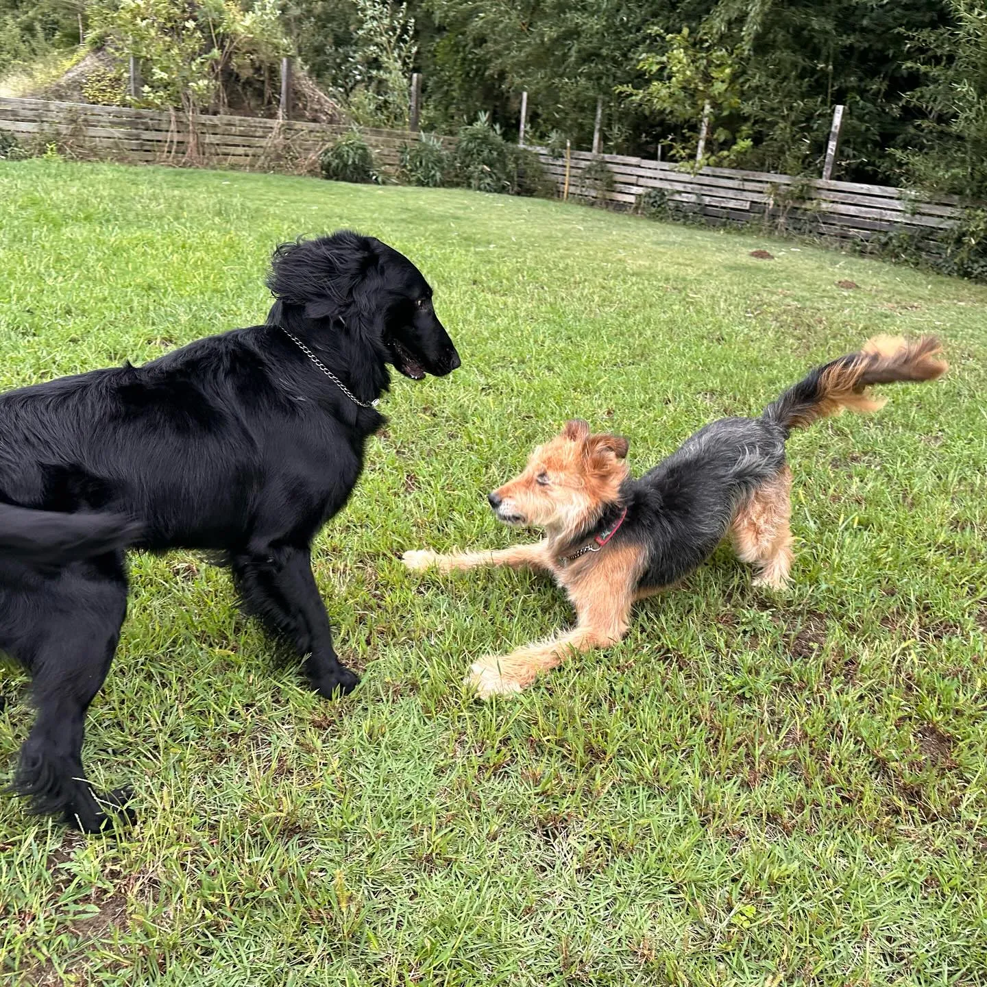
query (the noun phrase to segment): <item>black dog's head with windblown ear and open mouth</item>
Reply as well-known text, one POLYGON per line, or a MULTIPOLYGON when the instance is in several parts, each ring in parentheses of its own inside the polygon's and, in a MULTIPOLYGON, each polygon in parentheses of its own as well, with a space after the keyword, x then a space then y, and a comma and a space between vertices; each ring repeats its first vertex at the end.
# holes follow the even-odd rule
POLYGON ((328 320, 327 331, 340 320, 364 334, 413 380, 426 373, 442 377, 459 366, 428 282, 408 258, 373 237, 342 230, 282 244, 271 259, 267 287, 282 308, 328 320))

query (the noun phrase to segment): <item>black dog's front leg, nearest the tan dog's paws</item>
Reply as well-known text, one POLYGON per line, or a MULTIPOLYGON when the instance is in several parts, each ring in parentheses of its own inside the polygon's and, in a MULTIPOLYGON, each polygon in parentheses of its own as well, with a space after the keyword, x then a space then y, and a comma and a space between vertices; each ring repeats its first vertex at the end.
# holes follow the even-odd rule
POLYGON ((359 677, 340 662, 333 647, 308 550, 271 547, 264 555, 234 560, 232 569, 244 609, 305 657, 305 674, 316 692, 332 698, 356 687, 359 677))

